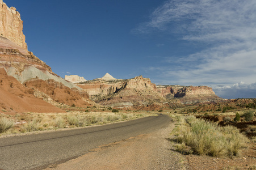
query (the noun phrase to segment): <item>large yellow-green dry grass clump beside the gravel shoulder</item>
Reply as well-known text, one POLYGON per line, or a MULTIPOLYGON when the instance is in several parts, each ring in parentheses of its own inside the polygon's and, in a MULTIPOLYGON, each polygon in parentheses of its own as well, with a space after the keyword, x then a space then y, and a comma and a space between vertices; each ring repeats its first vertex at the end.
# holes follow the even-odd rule
POLYGON ((233 126, 219 127, 215 122, 179 117, 177 141, 191 147, 198 155, 238 156, 246 147, 247 138, 233 126))

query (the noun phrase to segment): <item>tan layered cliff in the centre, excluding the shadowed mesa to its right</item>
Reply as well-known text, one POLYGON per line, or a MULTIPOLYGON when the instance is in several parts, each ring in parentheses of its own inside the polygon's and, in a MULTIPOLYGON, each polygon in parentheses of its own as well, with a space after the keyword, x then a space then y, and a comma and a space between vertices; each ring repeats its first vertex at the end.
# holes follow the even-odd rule
POLYGON ((107 107, 149 108, 153 104, 162 107, 162 103, 166 102, 165 98, 157 93, 156 84, 142 76, 126 80, 95 79, 77 86, 83 88, 90 95, 91 100, 107 107))

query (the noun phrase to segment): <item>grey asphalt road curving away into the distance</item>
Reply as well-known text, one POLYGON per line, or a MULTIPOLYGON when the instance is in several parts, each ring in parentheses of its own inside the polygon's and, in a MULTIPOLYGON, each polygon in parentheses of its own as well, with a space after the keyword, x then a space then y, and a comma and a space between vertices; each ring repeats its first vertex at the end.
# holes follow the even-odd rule
POLYGON ((0 169, 43 169, 77 158, 100 145, 163 128, 166 115, 90 128, 54 131, 0 139, 0 169))

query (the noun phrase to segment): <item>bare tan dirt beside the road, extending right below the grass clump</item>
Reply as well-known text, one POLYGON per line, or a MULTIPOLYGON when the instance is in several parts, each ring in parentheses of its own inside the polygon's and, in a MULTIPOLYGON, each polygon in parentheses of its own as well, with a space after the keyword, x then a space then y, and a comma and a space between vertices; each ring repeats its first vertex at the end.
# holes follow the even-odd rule
POLYGON ((256 146, 239 158, 183 155, 169 141, 174 124, 120 142, 102 145, 49 169, 256 169, 256 146))

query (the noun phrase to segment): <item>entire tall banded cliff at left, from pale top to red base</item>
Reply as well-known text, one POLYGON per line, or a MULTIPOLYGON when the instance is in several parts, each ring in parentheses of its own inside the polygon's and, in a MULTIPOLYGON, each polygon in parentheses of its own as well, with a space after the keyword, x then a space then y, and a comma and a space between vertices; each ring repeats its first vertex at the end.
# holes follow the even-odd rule
POLYGON ((56 103, 91 105, 82 88, 62 79, 45 62, 28 52, 19 12, 1 0, 0 10, 0 81, 3 84, 0 112, 1 109, 15 113, 61 111, 46 100, 36 98, 39 91, 45 94, 41 97, 51 97, 56 103))

